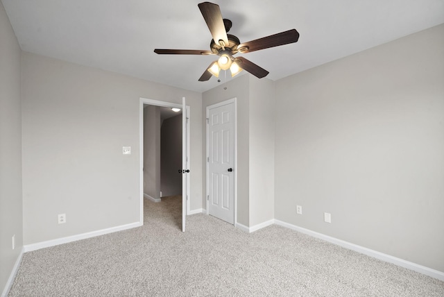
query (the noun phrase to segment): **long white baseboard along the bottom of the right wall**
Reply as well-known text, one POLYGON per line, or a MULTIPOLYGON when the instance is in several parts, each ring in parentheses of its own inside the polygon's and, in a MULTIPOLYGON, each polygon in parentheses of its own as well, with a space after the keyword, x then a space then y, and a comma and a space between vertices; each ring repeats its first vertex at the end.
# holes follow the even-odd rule
POLYGON ((305 229, 296 225, 292 225, 291 223, 286 223, 284 221, 275 220, 275 224, 279 226, 284 226, 290 228, 291 230, 296 230, 298 232, 310 235, 312 237, 316 237, 318 239, 323 239, 325 241, 329 241, 332 244, 336 244, 338 246, 342 246, 343 248, 348 248, 352 251, 357 251, 358 253, 368 255, 370 257, 374 257, 376 259, 382 260, 384 262, 392 263, 425 275, 429 275, 432 278, 437 278, 438 280, 444 280, 444 272, 438 271, 435 269, 431 269, 426 266, 422 266, 413 262, 409 262, 406 260, 402 260, 398 257, 393 257, 391 255, 386 255, 384 253, 380 253, 378 251, 371 250, 370 248, 364 248, 364 246, 358 246, 357 244, 352 244, 351 242, 344 241, 341 239, 337 239, 334 237, 330 237, 328 235, 323 235, 322 233, 314 232, 309 229, 305 229))

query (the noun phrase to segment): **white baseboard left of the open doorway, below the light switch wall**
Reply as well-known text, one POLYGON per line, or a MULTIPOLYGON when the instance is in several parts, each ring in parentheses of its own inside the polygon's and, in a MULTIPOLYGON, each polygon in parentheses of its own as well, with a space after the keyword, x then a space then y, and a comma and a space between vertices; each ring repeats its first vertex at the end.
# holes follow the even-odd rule
POLYGON ((140 222, 129 223, 129 224, 122 225, 122 226, 87 232, 87 233, 83 233, 83 234, 79 234, 79 235, 73 235, 73 236, 62 237, 62 238, 58 238, 58 239, 52 239, 52 240, 48 240, 48 241, 37 242, 37 244, 27 244, 26 246, 24 246, 24 251, 25 252, 36 251, 36 250, 40 250, 40 248, 49 248, 50 246, 58 246, 59 244, 67 244, 68 242, 78 241, 81 239, 87 239, 87 238, 96 237, 96 236, 100 236, 100 235, 105 235, 105 234, 112 233, 112 232, 127 230, 127 229, 131 229, 131 228, 139 227, 142 225, 143 225, 143 223, 140 223, 140 222))

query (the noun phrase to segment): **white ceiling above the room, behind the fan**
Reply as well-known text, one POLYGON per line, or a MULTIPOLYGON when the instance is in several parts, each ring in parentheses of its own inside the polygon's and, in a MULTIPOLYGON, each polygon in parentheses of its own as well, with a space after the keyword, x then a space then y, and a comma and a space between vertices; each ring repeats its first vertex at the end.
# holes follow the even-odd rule
MULTIPOLYGON (((202 1, 2 0, 22 50, 204 92, 215 56, 157 55, 160 49, 210 49, 202 1)), ((296 44, 248 60, 278 80, 444 23, 444 0, 213 0, 241 42, 296 28, 296 44)), ((240 54, 238 54, 240 56, 240 54)), ((245 71, 242 71, 245 72, 245 71)), ((232 79, 220 76, 223 83, 232 79)))

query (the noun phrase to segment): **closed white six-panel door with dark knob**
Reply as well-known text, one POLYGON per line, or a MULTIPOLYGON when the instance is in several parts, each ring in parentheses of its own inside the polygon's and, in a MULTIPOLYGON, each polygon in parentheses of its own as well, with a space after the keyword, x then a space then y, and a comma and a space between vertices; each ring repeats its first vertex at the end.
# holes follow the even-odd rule
POLYGON ((207 107, 207 210, 234 223, 234 99, 207 107))

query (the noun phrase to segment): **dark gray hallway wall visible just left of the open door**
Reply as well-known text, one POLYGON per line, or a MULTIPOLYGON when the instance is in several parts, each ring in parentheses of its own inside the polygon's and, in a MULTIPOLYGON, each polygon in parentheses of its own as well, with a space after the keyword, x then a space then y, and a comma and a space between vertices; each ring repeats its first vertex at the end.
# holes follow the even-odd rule
POLYGON ((160 129, 160 190, 162 196, 182 195, 182 114, 165 119, 160 129))

